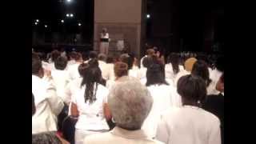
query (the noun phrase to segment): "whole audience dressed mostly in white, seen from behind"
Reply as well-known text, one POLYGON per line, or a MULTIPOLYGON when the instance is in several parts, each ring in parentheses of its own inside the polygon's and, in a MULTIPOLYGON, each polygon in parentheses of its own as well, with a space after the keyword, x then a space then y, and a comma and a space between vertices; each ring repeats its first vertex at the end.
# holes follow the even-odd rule
POLYGON ((222 63, 202 53, 164 58, 154 47, 141 61, 134 54, 32 51, 32 141, 224 143, 222 63))

